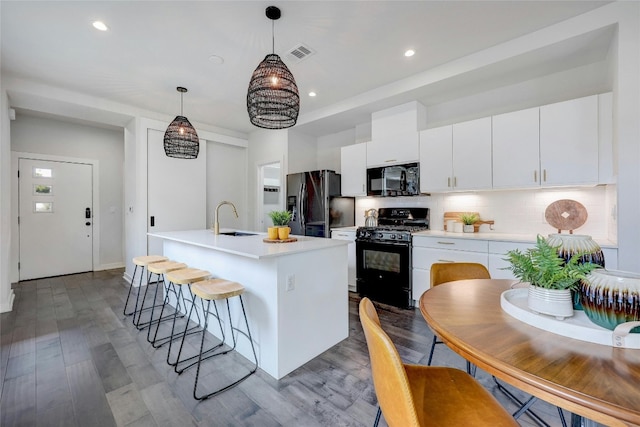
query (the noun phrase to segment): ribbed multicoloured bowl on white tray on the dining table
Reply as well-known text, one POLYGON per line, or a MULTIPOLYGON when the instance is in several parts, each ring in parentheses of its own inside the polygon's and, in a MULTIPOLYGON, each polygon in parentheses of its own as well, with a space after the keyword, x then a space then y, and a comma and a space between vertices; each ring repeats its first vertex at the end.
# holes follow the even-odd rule
MULTIPOLYGON (((580 301, 589 320, 603 328, 640 320, 640 274, 593 270, 580 282, 580 301)), ((640 327, 631 332, 640 333, 640 327)))

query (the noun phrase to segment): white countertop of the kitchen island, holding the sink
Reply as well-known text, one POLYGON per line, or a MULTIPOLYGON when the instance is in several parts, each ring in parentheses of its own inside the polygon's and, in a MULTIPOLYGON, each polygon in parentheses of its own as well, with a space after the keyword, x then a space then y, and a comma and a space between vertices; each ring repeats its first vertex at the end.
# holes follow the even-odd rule
MULTIPOLYGON (((223 229, 221 231, 224 233, 233 230, 223 229)), ((247 233, 254 232, 247 231, 247 233)), ((267 237, 266 233, 256 233, 254 236, 225 236, 222 234, 216 235, 213 230, 166 231, 148 233, 148 235, 256 259, 316 251, 349 244, 345 240, 294 235, 290 237, 298 239, 297 242, 265 243, 263 239, 267 237)))

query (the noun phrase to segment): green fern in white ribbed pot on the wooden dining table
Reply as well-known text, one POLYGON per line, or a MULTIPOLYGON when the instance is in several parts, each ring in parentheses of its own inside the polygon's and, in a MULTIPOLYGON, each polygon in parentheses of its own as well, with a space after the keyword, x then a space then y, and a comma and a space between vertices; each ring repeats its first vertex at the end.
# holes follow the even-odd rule
POLYGON ((600 267, 580 262, 581 256, 577 253, 565 262, 558 255, 558 247, 538 236, 534 248, 507 252, 505 261, 511 265, 505 269, 511 270, 521 282, 529 283, 527 305, 531 311, 563 320, 573 316, 571 291, 577 289, 589 272, 600 267))

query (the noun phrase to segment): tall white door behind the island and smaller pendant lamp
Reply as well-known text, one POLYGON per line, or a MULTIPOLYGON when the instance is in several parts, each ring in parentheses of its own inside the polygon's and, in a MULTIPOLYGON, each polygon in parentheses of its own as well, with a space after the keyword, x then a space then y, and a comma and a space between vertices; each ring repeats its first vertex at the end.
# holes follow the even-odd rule
MULTIPOLYGON (((147 231, 202 230, 207 227, 206 141, 200 140, 197 159, 176 159, 165 155, 163 140, 164 132, 148 130, 147 231)), ((162 240, 148 237, 147 253, 162 255, 162 240)))

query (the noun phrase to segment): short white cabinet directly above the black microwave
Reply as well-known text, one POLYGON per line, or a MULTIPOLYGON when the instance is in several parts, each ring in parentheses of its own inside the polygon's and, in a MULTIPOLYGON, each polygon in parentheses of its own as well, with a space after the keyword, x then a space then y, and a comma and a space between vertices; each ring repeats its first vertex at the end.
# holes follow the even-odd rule
POLYGON ((378 136, 367 143, 367 166, 385 166, 418 161, 418 131, 378 136))

